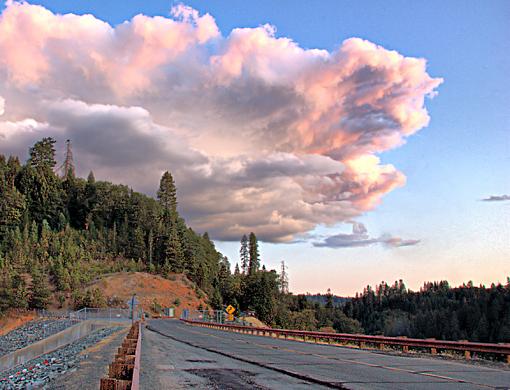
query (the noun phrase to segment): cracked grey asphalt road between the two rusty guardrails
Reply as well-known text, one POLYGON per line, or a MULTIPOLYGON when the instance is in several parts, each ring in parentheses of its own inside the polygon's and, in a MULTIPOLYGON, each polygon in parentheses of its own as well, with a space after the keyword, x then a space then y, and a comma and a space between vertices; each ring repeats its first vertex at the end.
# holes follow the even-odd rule
POLYGON ((142 389, 510 389, 510 370, 152 320, 142 389))

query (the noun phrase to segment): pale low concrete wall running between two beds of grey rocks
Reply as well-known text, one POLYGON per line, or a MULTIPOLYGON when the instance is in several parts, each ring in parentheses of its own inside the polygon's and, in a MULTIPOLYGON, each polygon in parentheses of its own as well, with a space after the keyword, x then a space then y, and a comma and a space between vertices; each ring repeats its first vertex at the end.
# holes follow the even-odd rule
MULTIPOLYGON (((127 325, 122 323, 122 325, 127 325)), ((38 356, 52 352, 64 345, 70 344, 82 337, 87 336, 95 330, 119 326, 118 323, 109 321, 87 320, 81 321, 76 325, 70 326, 61 332, 55 333, 43 340, 37 341, 24 348, 20 348, 14 352, 0 357, 0 372, 9 370, 17 365, 26 363, 38 356)))

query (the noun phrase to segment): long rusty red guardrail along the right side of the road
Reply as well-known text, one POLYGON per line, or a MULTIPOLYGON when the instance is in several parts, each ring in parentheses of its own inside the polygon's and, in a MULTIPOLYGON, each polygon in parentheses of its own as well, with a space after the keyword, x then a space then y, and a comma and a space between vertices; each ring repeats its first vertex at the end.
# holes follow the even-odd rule
POLYGON ((503 356, 505 361, 510 364, 510 344, 491 344, 491 343, 475 343, 470 341, 446 341, 435 339, 411 339, 406 337, 386 337, 386 336, 369 336, 361 334, 348 333, 328 333, 328 332, 310 332, 302 330, 289 329, 272 329, 258 328, 254 326, 239 326, 214 324, 203 321, 181 320, 186 323, 209 327, 219 330, 234 331, 239 333, 255 334, 259 336, 269 336, 276 338, 302 340, 315 343, 341 343, 341 344, 357 344, 359 348, 367 348, 376 346, 383 349, 384 346, 398 347, 403 352, 409 352, 409 349, 429 350, 435 355, 438 351, 455 351, 464 353, 464 357, 469 360, 474 353, 490 354, 503 356))

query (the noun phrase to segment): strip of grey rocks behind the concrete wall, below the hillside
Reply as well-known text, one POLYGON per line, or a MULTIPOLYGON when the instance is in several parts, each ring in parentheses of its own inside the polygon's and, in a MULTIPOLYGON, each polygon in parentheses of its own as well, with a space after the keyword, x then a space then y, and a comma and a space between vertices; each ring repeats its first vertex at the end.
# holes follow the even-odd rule
POLYGON ((76 324, 76 320, 35 320, 0 336, 0 356, 24 348, 76 324))

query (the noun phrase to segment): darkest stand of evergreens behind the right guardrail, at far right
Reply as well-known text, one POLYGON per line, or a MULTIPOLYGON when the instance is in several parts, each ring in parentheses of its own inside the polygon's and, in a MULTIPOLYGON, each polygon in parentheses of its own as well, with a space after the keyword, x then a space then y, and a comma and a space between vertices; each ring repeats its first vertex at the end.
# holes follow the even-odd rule
POLYGON ((510 278, 488 288, 427 282, 420 291, 409 290, 402 280, 391 286, 383 282, 375 289, 367 286, 343 311, 367 334, 509 342, 510 278))

